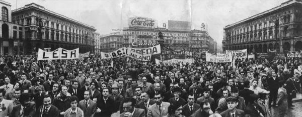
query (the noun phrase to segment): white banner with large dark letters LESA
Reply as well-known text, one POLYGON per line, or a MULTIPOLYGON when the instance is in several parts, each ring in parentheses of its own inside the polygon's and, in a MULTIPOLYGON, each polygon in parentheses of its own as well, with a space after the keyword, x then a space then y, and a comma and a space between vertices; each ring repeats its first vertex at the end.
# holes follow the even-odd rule
POLYGON ((80 58, 79 48, 67 50, 60 47, 49 52, 39 48, 38 51, 38 60, 75 59, 75 58, 80 58))

